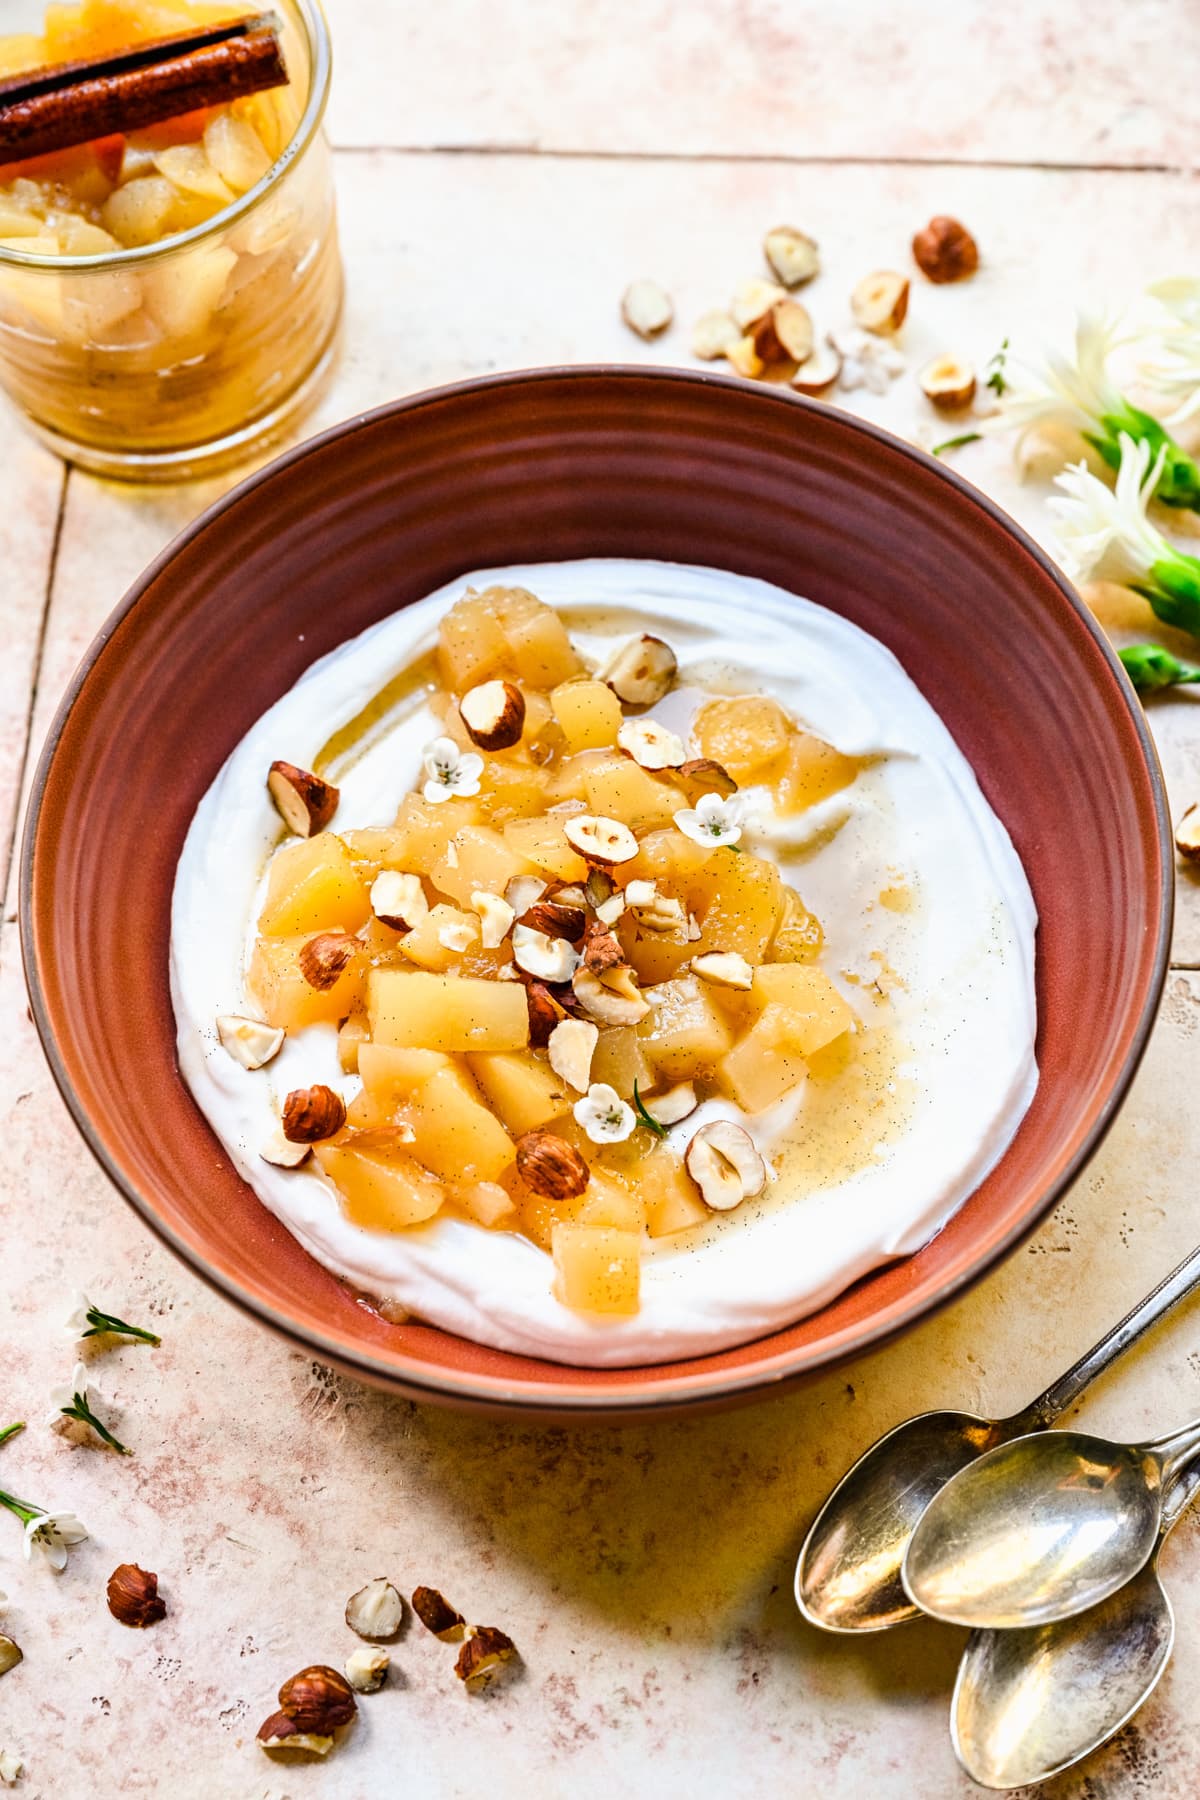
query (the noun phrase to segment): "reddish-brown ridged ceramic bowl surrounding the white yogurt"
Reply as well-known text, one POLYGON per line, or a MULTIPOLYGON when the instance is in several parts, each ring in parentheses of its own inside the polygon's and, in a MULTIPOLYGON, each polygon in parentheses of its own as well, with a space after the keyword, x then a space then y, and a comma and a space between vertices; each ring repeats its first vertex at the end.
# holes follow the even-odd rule
POLYGON ((313 1355, 412 1397, 621 1413, 761 1391, 961 1292, 1079 1174, 1150 1033, 1171 922, 1162 781, 1076 594, 981 493, 820 403, 648 369, 547 369, 383 407, 236 488, 133 587, 50 731, 23 844, 25 968, 101 1165, 214 1287, 313 1355), (1007 1156, 916 1256, 788 1330, 655 1368, 578 1370, 387 1325, 234 1174, 175 1062, 175 862, 200 796, 304 668, 471 567, 712 563, 889 644, 1020 851, 1042 916, 1042 1085, 1007 1156), (1067 673, 1067 684, 1063 682, 1067 673))

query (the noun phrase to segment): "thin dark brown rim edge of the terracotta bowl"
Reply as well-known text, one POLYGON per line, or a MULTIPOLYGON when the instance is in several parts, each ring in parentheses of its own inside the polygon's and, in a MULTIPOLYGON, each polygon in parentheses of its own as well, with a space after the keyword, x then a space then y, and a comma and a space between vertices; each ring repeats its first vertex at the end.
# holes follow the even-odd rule
MULTIPOLYGON (((275 1307, 263 1303, 252 1292, 239 1287, 239 1283, 219 1274, 216 1269, 209 1267, 205 1258, 193 1251, 155 1211, 153 1204, 130 1183, 124 1179, 121 1170, 110 1161, 103 1143, 99 1141, 92 1121, 76 1094, 70 1076, 59 1058, 58 1046, 54 1040, 54 1028, 50 1024, 49 1008, 41 981, 38 977, 38 959, 34 954, 34 916, 32 916, 32 864, 34 864, 34 844, 38 837, 38 819, 41 814, 41 801, 45 796, 45 785, 54 760, 54 752, 59 736, 65 729, 67 718, 76 704, 76 698, 97 662, 108 639, 113 635, 117 625, 133 610, 142 594, 151 587, 151 583, 160 576, 160 572, 171 563, 178 551, 189 544, 193 538, 200 536, 216 517, 237 506, 246 495, 254 493, 255 488, 273 481, 282 470, 302 461, 315 450, 326 445, 336 443, 342 437, 371 428, 374 423, 396 414, 417 412, 423 407, 443 405, 446 400, 457 400, 461 396, 470 398, 477 392, 495 391, 497 387, 520 385, 529 387, 542 382, 563 382, 563 380, 630 380, 635 378, 644 382, 648 378, 662 380, 664 383, 693 385, 693 387, 730 387, 741 396, 752 391, 761 398, 763 405, 781 405, 781 407, 802 407, 811 412, 826 412, 828 403, 820 400, 808 400, 802 394, 793 394, 788 389, 774 387, 763 383, 759 387, 748 389, 748 383, 738 376, 714 374, 709 371, 694 369, 671 369, 655 367, 646 364, 563 364, 547 365, 542 369, 516 369, 500 374, 475 376, 464 382, 452 382, 444 387, 423 389, 417 394, 408 394, 403 400, 392 400, 385 405, 374 407, 369 412, 358 412, 340 425, 333 425, 315 437, 308 437, 304 443, 275 457, 264 468, 255 470, 245 481, 237 482, 228 493, 207 506, 182 533, 178 533, 166 549, 142 571, 133 587, 126 592, 124 599, 117 603, 113 612, 108 616, 92 644, 85 652, 79 668, 76 670, 67 693, 63 695, 50 731, 47 733, 45 743, 38 756, 38 767, 29 792, 29 808, 25 815, 25 830, 22 837, 22 871, 20 871, 20 936, 22 936, 22 959, 25 967, 25 981, 29 986, 29 995, 32 1001, 32 1017, 41 1037, 41 1046, 50 1064, 50 1073, 58 1084, 58 1089, 67 1103, 70 1116, 79 1129, 85 1143, 92 1150, 92 1156, 101 1165, 113 1186, 126 1197, 133 1210, 144 1219, 144 1222, 155 1231, 169 1249, 198 1274, 203 1282, 214 1287, 219 1294, 230 1300, 243 1312, 268 1325, 279 1336, 297 1345, 304 1352, 324 1357, 345 1368, 349 1373, 358 1375, 365 1381, 383 1384, 396 1390, 405 1386, 414 1393, 428 1397, 432 1400, 443 1400, 452 1404, 466 1406, 507 1406, 524 1408, 527 1411, 547 1411, 547 1413, 576 1413, 576 1415, 622 1415, 631 1413, 651 1413, 651 1411, 678 1411, 687 1406, 712 1406, 716 1402, 729 1402, 736 1397, 745 1397, 754 1390, 775 1390, 781 1382, 797 1379, 801 1375, 815 1373, 817 1370, 837 1366, 851 1355, 862 1355, 867 1350, 878 1348, 889 1339, 909 1330, 912 1325, 919 1323, 923 1318, 932 1316, 941 1310, 950 1300, 959 1292, 972 1287, 981 1280, 988 1269, 995 1267, 1004 1256, 1007 1256, 1029 1233, 1042 1222, 1047 1211, 1054 1206, 1058 1199, 1067 1192, 1072 1181, 1087 1166, 1090 1157, 1099 1148, 1108 1129, 1112 1127, 1121 1103, 1128 1093, 1130 1082, 1133 1080, 1139 1064, 1146 1053, 1146 1044, 1150 1042, 1150 1033, 1153 1030, 1159 1001, 1162 997, 1162 986, 1168 974, 1169 947, 1171 947, 1171 925, 1175 918, 1175 859, 1173 859, 1173 839, 1169 826, 1169 812, 1166 799, 1166 785, 1162 779, 1162 767, 1159 763, 1159 752, 1155 742, 1150 734, 1146 724, 1146 715, 1133 691, 1133 686, 1121 664, 1121 659, 1108 643, 1105 632, 1097 625, 1090 608, 1083 603, 1076 589, 1065 578, 1061 569, 1047 556, 1047 553, 1011 518, 1004 508, 997 506, 986 493, 968 482, 955 470, 946 468, 936 457, 919 450, 916 445, 907 443, 903 437, 896 437, 892 432, 869 419, 856 418, 855 414, 842 414, 842 421, 847 430, 858 432, 864 437, 874 439, 885 446, 891 454, 900 454, 910 463, 923 470, 932 470, 941 481, 945 481, 957 495, 970 506, 986 513, 995 524, 1009 533, 1020 544, 1027 556, 1042 569, 1042 572, 1054 583, 1063 601, 1078 614, 1085 628, 1090 632, 1097 648, 1101 650, 1112 677, 1117 684, 1121 700, 1130 715, 1137 740, 1141 743, 1142 758, 1150 774, 1150 787, 1153 794, 1155 824, 1159 837, 1159 859, 1160 859, 1160 878, 1162 878, 1162 900, 1159 905, 1157 920, 1157 943, 1153 956, 1151 979, 1146 990, 1146 999, 1137 1019, 1137 1028, 1130 1040, 1130 1049, 1126 1058, 1117 1071, 1108 1098, 1099 1111, 1096 1121, 1085 1134, 1079 1148, 1072 1156, 1070 1163, 1061 1170, 1061 1174, 1045 1188, 1038 1201, 1031 1206, 1029 1213, 1004 1233, 999 1242, 990 1244, 975 1258, 968 1262, 966 1267, 955 1271, 948 1276, 941 1287, 932 1294, 923 1294, 909 1300, 901 1307, 889 1312, 887 1318, 880 1321, 871 1321, 867 1325, 846 1327, 833 1339, 826 1339, 819 1352, 813 1354, 810 1348, 779 1352, 763 1363, 756 1363, 748 1368, 738 1370, 736 1373, 723 1372, 718 1379, 707 1379, 703 1373, 693 1373, 680 1377, 678 1381, 664 1381, 655 1386, 651 1395, 639 1395, 637 1390, 626 1386, 613 1388, 612 1391, 594 1391, 588 1388, 570 1390, 565 1384, 549 1390, 545 1395, 529 1382, 524 1381, 497 1381, 491 1377, 466 1377, 461 1379, 448 1370, 439 1370, 430 1375, 425 1368, 405 1368, 399 1372, 392 1363, 385 1363, 363 1350, 347 1352, 345 1345, 335 1343, 324 1337, 320 1332, 309 1332, 300 1328, 286 1314, 279 1312, 275 1307)), ((770 1334, 768 1334, 770 1336, 770 1334)), ((669 1368, 669 1364, 664 1364, 669 1368)), ((563 1373, 569 1379, 572 1364, 563 1364, 563 1373)), ((613 1372, 619 1373, 619 1372, 613 1372)))

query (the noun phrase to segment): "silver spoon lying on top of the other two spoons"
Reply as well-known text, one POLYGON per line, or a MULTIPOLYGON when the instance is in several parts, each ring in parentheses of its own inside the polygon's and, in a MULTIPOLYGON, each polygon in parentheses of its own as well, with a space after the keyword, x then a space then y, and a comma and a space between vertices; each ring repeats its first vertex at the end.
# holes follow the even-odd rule
POLYGON ((988 1451, 930 1501, 905 1593, 950 1625, 1011 1631, 1099 1606, 1137 1575, 1162 1494, 1200 1454, 1200 1420, 1150 1444, 1036 1431, 988 1451))

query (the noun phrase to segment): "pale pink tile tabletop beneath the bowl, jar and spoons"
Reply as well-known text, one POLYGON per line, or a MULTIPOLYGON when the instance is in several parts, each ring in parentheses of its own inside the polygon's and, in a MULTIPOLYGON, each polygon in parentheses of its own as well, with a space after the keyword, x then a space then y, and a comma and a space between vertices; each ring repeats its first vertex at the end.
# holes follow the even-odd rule
MULTIPOLYGON (((0 0, 0 27, 7 5, 0 0)), ((1054 9, 1052 23, 1049 9, 925 5, 903 27, 896 9, 858 5, 837 9, 837 29, 833 9, 820 9, 813 31, 808 5, 775 11, 761 0, 637 18, 540 4, 500 14, 453 0, 428 16, 389 7, 374 38, 365 25, 374 0, 353 9, 336 0, 333 14, 335 130, 362 144, 560 144, 565 133, 561 142, 585 148, 684 153, 766 144, 923 157, 934 144, 939 155, 1009 160, 1191 155, 1184 85, 1166 72, 1187 65, 1195 22, 1164 5, 1085 14, 1072 4, 1054 9), (945 50, 930 70, 934 20, 945 50), (964 67, 970 94, 957 88, 964 67), (932 83, 919 103, 914 70, 932 83)), ((930 212, 959 212, 975 229, 984 252, 975 283, 934 290, 914 279, 901 340, 912 369, 945 347, 982 358, 1006 333, 1061 337, 1078 297, 1121 299, 1153 274, 1189 266, 1200 241, 1193 185, 1153 173, 349 151, 338 184, 347 344, 313 428, 489 369, 687 364, 691 319, 757 272, 761 232, 783 218, 822 241, 826 272, 806 295, 822 328, 844 322, 849 286, 867 268, 907 266, 912 229, 930 212), (678 322, 657 346, 617 319, 621 288, 639 274, 676 301, 678 322)), ((923 441, 941 430, 912 373, 864 410, 923 441)), ((7 423, 0 459, 20 495, 0 518, 0 623, 14 646, 0 666, 0 733, 13 745, 2 770, 14 783, 22 743, 11 722, 20 725, 29 704, 23 671, 59 475, 7 423)), ((1006 446, 972 446, 959 466, 1045 536, 1045 486, 1018 484, 1006 446)), ((124 587, 212 493, 139 495, 72 475, 34 747, 124 587)), ((1115 630, 1139 630, 1126 601, 1101 599, 1115 630)), ((1151 713, 1177 810, 1200 796, 1196 716, 1186 698, 1151 713)), ((1180 902, 1177 956, 1200 963, 1200 887, 1186 884, 1180 902)), ((957 1800, 977 1791, 957 1773, 945 1730, 959 1634, 916 1627, 862 1645, 824 1640, 793 1615, 792 1562, 829 1483, 880 1431, 923 1406, 1020 1406, 1191 1246, 1200 976, 1171 976, 1146 1067, 1092 1172, 1022 1253, 943 1318, 792 1397, 721 1418, 590 1431, 484 1424, 380 1397, 218 1301, 86 1157, 36 1048, 16 961, 7 927, 0 1390, 31 1429, 0 1447, 0 1485, 76 1507, 94 1532, 56 1580, 20 1562, 18 1526, 0 1516, 7 1627, 27 1652, 0 1687, 0 1748, 27 1762, 16 1793, 365 1800, 403 1787, 439 1800, 531 1791, 606 1800, 624 1789, 748 1800, 774 1786, 819 1800, 957 1800), (158 1352, 124 1348, 95 1364, 131 1462, 72 1449, 41 1424, 49 1386, 74 1357, 56 1319, 76 1285, 164 1332, 158 1352), (146 1634, 122 1631, 103 1606, 104 1579, 124 1559, 157 1568, 171 1606, 146 1634), (329 1764, 272 1766, 252 1737, 279 1681, 306 1661, 345 1656, 344 1602, 380 1571, 407 1589, 439 1584, 473 1616, 509 1629, 524 1678, 471 1701, 450 1676, 453 1652, 410 1625, 394 1651, 396 1685, 363 1701, 329 1764)), ((1196 1409, 1193 1310, 1135 1352, 1083 1417, 1132 1436, 1196 1409)), ((1047 1800, 1173 1800, 1195 1786, 1195 1523, 1173 1539, 1164 1573, 1178 1618, 1168 1679, 1135 1726, 1079 1777, 1045 1787, 1047 1800)))

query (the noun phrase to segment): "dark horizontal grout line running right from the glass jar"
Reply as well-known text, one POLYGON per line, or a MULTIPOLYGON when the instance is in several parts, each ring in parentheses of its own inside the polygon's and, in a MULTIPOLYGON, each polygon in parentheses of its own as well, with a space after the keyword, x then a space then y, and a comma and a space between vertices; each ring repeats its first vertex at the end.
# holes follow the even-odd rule
POLYGON ((569 149, 552 144, 338 144, 338 157, 531 157, 547 162, 745 162, 786 164, 793 167, 860 167, 860 169, 1011 169, 1013 173, 1043 175, 1196 175, 1196 167, 1182 162, 1040 162, 1007 157, 873 157, 873 155, 804 155, 802 151, 768 149, 569 149))

